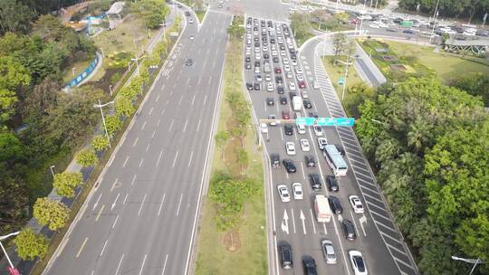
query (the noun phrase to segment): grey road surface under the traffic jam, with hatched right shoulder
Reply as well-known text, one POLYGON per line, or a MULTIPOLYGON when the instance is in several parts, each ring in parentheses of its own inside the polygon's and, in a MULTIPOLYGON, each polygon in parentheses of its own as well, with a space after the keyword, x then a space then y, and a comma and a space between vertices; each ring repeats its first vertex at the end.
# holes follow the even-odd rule
MULTIPOLYGON (((271 2, 271 1, 267 1, 271 2)), ((272 1, 273 2, 273 1, 272 1)), ((276 10, 279 10, 278 8, 276 10)), ((247 16, 252 16, 254 13, 251 10, 246 10, 247 16)), ((257 16, 256 16, 257 17, 257 16)), ((274 18, 280 19, 278 16, 274 18)), ((269 18, 259 18, 268 20, 269 18)), ((285 22, 286 19, 280 20, 285 22)), ((273 22, 275 26, 275 22, 273 22)), ((261 28, 259 27, 259 30, 261 28)), ((254 37, 254 36, 253 36, 254 37)), ((261 36, 260 36, 261 37, 261 36)), ((261 40, 260 40, 261 41, 261 40)), ((304 111, 302 109, 302 116, 309 117, 309 111, 316 112, 319 117, 333 117, 340 118, 345 117, 344 110, 340 105, 335 91, 332 88, 321 62, 316 56, 316 47, 321 42, 319 39, 315 39, 312 43, 308 43, 300 54, 299 66, 304 71, 306 77, 307 91, 309 98, 312 100, 312 109, 304 111), (321 86, 321 90, 312 90, 312 81, 318 81, 321 86)), ((268 52, 271 55, 271 43, 268 44, 268 52)), ((263 55, 263 45, 262 55, 263 55)), ((278 47, 278 45, 277 45, 278 47)), ((279 51, 280 52, 280 51, 279 51)), ((287 58, 291 61, 290 53, 285 52, 285 56, 280 56, 280 62, 274 63, 271 60, 273 67, 280 67, 283 70, 283 59, 287 58)), ((245 54, 245 53, 244 53, 245 54)), ((254 78, 254 47, 252 45, 251 57, 252 70, 245 71, 245 82, 253 83, 254 78)), ((263 64, 263 58, 262 58, 263 64)), ((292 80, 286 79, 284 72, 279 73, 283 76, 285 83, 289 81, 295 81, 296 73, 293 71, 292 66, 292 80)), ((261 72, 264 76, 264 72, 261 72)), ((293 111, 290 102, 288 92, 290 89, 287 85, 284 85, 284 96, 287 98, 288 103, 282 105, 279 102, 279 95, 277 94, 274 81, 274 72, 271 73, 271 82, 274 85, 274 90, 269 92, 266 90, 263 81, 261 84, 261 90, 250 90, 250 99, 253 102, 254 116, 257 119, 267 119, 269 115, 274 114, 278 119, 282 119, 282 111, 288 111, 291 119, 293 119, 293 111), (273 106, 266 104, 266 99, 272 97, 274 99, 273 106)), ((299 90, 295 90, 299 92, 299 90)), ((283 270, 280 267, 280 261, 275 258, 274 262, 270 262, 271 273, 274 274, 302 274, 302 256, 311 255, 317 264, 318 272, 321 274, 354 274, 351 269, 350 261, 348 259, 348 251, 358 250, 364 255, 367 269, 369 274, 416 274, 417 270, 414 266, 409 251, 404 244, 402 236, 398 232, 397 227, 392 222, 392 218, 387 209, 385 200, 381 195, 379 186, 375 181, 375 176, 371 173, 369 165, 364 156, 362 156, 360 145, 355 137, 354 132, 350 128, 323 128, 325 135, 330 144, 341 145, 347 152, 347 163, 349 165, 349 173, 347 176, 340 177, 340 192, 334 195, 340 198, 344 212, 340 215, 335 215, 331 223, 317 223, 315 220, 315 214, 313 210, 313 195, 325 194, 330 195, 331 192, 327 190, 325 185, 325 176, 332 175, 330 167, 327 165, 324 157, 321 155, 321 151, 317 146, 317 137, 314 136, 312 128, 306 130, 306 134, 300 135, 293 127, 293 135, 287 136, 284 134, 283 126, 269 127, 268 134, 264 134, 263 140, 265 145, 265 154, 270 155, 272 153, 278 153, 283 158, 291 158, 295 166, 297 166, 297 172, 294 174, 288 174, 283 165, 281 168, 272 168, 269 163, 267 165, 268 175, 266 175, 270 182, 266 186, 267 207, 272 211, 271 216, 268 216, 269 226, 272 227, 274 232, 273 240, 269 240, 269 249, 275 252, 275 257, 278 258, 276 253, 277 242, 286 241, 292 246, 293 254, 293 268, 292 270, 283 270), (303 153, 299 144, 299 140, 305 138, 309 140, 312 146, 311 152, 303 153), (285 154, 285 142, 293 142, 296 148, 297 154, 295 156, 287 156, 285 154), (319 161, 319 166, 315 168, 308 168, 304 164, 304 155, 313 155, 316 160, 319 161), (309 174, 318 173, 321 175, 322 188, 320 192, 312 190, 309 182, 309 174), (303 200, 294 200, 289 203, 283 203, 277 192, 277 185, 287 185, 289 192, 292 194, 292 183, 302 183, 304 190, 303 200), (348 202, 348 196, 350 194, 357 194, 366 208, 364 214, 353 213, 350 204, 348 202), (340 221, 342 219, 348 219, 355 224, 357 232, 357 240, 347 241, 343 236, 340 228, 340 221), (321 252, 321 240, 328 239, 333 242, 335 251, 337 254, 337 264, 329 265, 323 259, 321 252)), ((269 237, 270 238, 270 237, 269 237)))

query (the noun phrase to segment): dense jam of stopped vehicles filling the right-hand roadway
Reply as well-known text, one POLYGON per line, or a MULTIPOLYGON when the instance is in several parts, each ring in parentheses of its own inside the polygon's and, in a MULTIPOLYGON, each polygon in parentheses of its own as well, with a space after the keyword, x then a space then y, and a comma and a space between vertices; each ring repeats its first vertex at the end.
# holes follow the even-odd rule
MULTIPOLYGON (((291 31, 287 24, 273 23, 272 21, 259 20, 257 18, 248 17, 246 19, 245 33, 245 70, 253 71, 253 81, 246 82, 246 89, 250 92, 259 92, 266 90, 267 97, 265 106, 275 106, 275 102, 282 107, 290 104, 290 109, 293 110, 293 118, 301 118, 302 111, 308 117, 318 118, 318 114, 312 111, 312 101, 309 100, 306 87, 306 76, 298 61, 298 52, 292 41, 291 31), (288 90, 288 97, 285 92, 288 90), (276 91, 276 94, 275 94, 276 91)), ((317 81, 312 81, 312 90, 319 90, 317 81)), ((274 109, 274 108, 269 108, 274 109)), ((278 107, 276 108, 278 111, 278 107)), ((265 107, 266 110, 266 107, 265 107)), ((271 128, 279 128, 283 121, 282 119, 292 119, 289 110, 281 112, 282 118, 277 119, 277 114, 267 114, 268 122, 261 123, 260 131, 262 134, 268 135, 271 128)), ((292 121, 291 121, 292 122, 292 121)), ((299 135, 305 135, 307 128, 303 125, 294 125, 292 123, 283 124, 283 133, 286 136, 292 136, 296 128, 299 135)), ((312 132, 317 138, 317 146, 320 152, 325 157, 326 162, 331 167, 332 175, 326 175, 326 185, 331 192, 340 191, 339 177, 346 175, 348 166, 343 158, 344 150, 338 145, 328 143, 327 137, 321 126, 313 126, 312 132)), ((303 136, 305 137, 305 136, 303 136)), ((312 151, 313 144, 307 138, 300 138, 300 149, 305 153, 304 164, 314 169, 319 166, 319 161, 316 157, 308 152, 312 151)), ((285 155, 296 156, 299 149, 296 148, 294 141, 285 142, 285 155)), ((271 165, 273 168, 284 167, 286 173, 293 174, 297 172, 292 157, 285 157, 281 161, 280 154, 270 154, 271 165)), ((308 173, 309 182, 312 186, 314 197, 314 212, 318 223, 329 223, 333 213, 340 214, 343 212, 340 198, 334 195, 329 197, 320 194, 322 180, 318 173, 308 173)), ((304 179, 305 180, 305 179, 304 179)), ((278 195, 283 203, 290 203, 293 200, 303 200, 307 197, 302 183, 293 182, 290 185, 280 184, 276 186, 278 195)), ((363 213, 363 205, 357 195, 348 197, 349 203, 354 213, 363 213)), ((356 239, 356 231, 353 223, 348 219, 341 220, 341 228, 347 240, 353 241, 356 239)), ((321 251, 324 260, 327 264, 336 264, 336 252, 331 240, 321 240, 318 243, 321 246, 321 251)), ((281 241, 277 243, 279 260, 282 263, 283 269, 291 269, 292 247, 290 243, 281 241)), ((349 251, 351 268, 355 275, 367 275, 365 261, 360 251, 349 251)), ((302 256, 302 266, 304 274, 317 274, 316 261, 309 255, 302 256)))

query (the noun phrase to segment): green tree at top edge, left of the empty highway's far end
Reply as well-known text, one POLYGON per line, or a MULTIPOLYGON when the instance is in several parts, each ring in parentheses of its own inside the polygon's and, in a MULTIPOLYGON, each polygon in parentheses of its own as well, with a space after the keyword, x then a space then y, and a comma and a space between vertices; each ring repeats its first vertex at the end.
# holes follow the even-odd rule
POLYGON ((131 6, 143 17, 149 29, 158 29, 169 13, 168 5, 163 0, 140 0, 131 6))

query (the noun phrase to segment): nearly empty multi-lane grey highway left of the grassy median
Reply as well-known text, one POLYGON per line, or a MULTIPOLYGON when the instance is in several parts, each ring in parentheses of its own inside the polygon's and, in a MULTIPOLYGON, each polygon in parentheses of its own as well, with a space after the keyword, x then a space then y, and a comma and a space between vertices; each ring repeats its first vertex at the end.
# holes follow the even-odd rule
POLYGON ((44 274, 189 273, 232 16, 192 17, 44 274))

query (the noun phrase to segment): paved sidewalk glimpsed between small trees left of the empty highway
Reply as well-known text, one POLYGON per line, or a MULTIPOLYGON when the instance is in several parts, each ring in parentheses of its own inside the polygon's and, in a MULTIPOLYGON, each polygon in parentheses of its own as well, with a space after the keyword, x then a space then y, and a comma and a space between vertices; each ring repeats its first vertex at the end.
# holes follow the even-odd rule
MULTIPOLYGON (((169 17, 171 18, 171 21, 167 22, 166 28, 171 28, 171 26, 173 25, 173 22, 174 22, 173 19, 175 18, 175 14, 176 14, 176 12, 173 10, 174 7, 171 6, 171 5, 169 5, 169 7, 170 7, 169 17)), ((147 51, 147 52, 152 52, 153 51, 153 49, 156 46, 156 44, 158 43, 158 41, 163 37, 163 32, 164 32, 164 29, 161 28, 160 31, 146 45, 145 51, 147 51)), ((99 63, 101 63, 101 62, 99 62, 99 63)), ((129 78, 128 81, 130 81, 130 78, 129 78)), ((112 113, 114 111, 115 111, 115 109, 112 108, 110 110, 107 110, 107 113, 110 114, 110 113, 112 113)), ((94 134, 94 136, 96 136, 96 135, 103 135, 104 134, 104 131, 101 128, 101 123, 99 124, 99 126, 97 127, 97 129, 95 130, 95 132, 93 134, 94 134)), ((83 147, 83 148, 80 148, 80 150, 82 150, 84 148, 88 148, 90 146, 91 146, 91 140, 88 140, 86 146, 83 147)), ((91 175, 92 170, 93 170, 92 167, 83 168, 82 166, 78 165, 76 163, 76 160, 73 158, 72 159, 72 162, 70 163, 70 165, 68 165, 66 167, 66 170, 65 171, 66 172, 70 172, 70 173, 78 173, 78 172, 82 173, 82 175, 83 175, 83 181, 85 182, 88 179, 88 177, 91 175)), ((76 199, 76 197, 78 196, 78 194, 80 194, 80 192, 82 191, 82 188, 83 188, 83 185, 80 186, 80 187, 78 187, 75 190, 75 196, 72 199, 68 199, 68 198, 65 198, 65 197, 60 196, 59 194, 56 193, 55 189, 53 189, 51 191, 51 193, 47 195, 47 197, 49 199, 53 200, 53 201, 61 201, 63 204, 66 204, 68 207, 71 208, 74 200, 76 199)), ((34 219, 34 217, 31 218, 27 222, 26 226, 32 228, 34 230, 34 232, 43 233, 43 235, 45 235, 48 239, 51 239, 51 237, 53 237, 54 232, 50 231, 45 226, 39 225, 37 223, 37 220, 34 219)), ((17 256, 17 254, 14 251, 14 248, 12 246, 6 248, 6 250, 7 250, 7 253, 9 255, 11 261, 13 262, 14 266, 21 272, 21 274, 27 275, 27 274, 30 274, 31 273, 31 271, 34 268, 35 261, 22 261, 17 256)), ((0 261, 0 275, 8 275, 8 272, 6 270, 7 267, 8 267, 8 262, 6 261, 6 257, 4 257, 0 261)))

